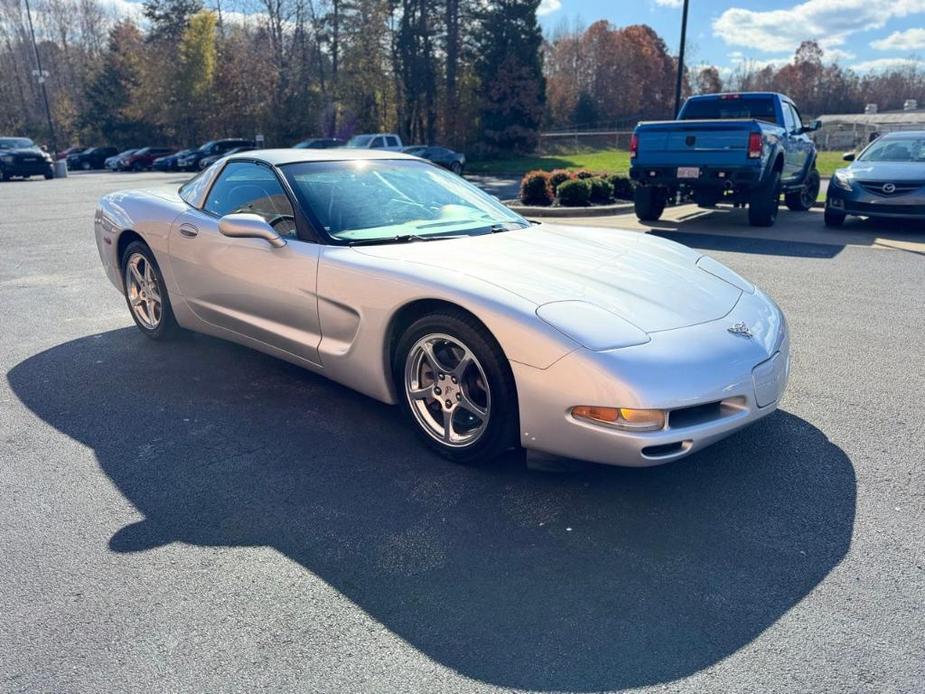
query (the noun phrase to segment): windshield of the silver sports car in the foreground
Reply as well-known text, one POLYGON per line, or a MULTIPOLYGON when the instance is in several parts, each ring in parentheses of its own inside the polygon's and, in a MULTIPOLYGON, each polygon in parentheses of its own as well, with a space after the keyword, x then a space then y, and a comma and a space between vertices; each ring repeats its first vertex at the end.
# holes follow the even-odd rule
POLYGON ((338 241, 426 240, 530 225, 459 176, 420 161, 302 162, 282 170, 302 207, 338 241))

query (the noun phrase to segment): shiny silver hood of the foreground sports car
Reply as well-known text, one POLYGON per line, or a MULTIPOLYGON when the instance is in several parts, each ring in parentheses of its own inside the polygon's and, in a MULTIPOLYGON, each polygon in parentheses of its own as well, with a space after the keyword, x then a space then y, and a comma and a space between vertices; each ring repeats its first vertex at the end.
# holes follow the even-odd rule
POLYGON ((658 332, 722 318, 742 292, 697 267, 701 254, 649 234, 542 224, 357 252, 463 273, 537 306, 582 301, 658 332))

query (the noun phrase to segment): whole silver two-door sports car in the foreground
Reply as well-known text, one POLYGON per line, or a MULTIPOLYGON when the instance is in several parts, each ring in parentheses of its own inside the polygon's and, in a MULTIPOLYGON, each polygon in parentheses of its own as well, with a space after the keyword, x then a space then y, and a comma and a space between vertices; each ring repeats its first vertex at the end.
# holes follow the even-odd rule
POLYGON ((774 411, 790 370, 780 309, 712 258, 531 224, 404 154, 242 153, 95 221, 148 337, 208 333, 397 403, 459 462, 677 460, 774 411))

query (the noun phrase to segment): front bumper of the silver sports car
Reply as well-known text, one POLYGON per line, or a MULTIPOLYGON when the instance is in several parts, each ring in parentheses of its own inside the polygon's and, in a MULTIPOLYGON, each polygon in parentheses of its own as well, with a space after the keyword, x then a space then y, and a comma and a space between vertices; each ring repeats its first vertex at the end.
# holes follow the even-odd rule
POLYGON ((756 292, 718 321, 653 333, 610 352, 576 350, 548 369, 513 364, 521 445, 608 465, 678 460, 775 409, 790 374, 790 340, 780 310, 756 292), (753 338, 727 328, 744 321, 753 338), (663 429, 633 432, 571 415, 575 405, 668 411, 663 429))

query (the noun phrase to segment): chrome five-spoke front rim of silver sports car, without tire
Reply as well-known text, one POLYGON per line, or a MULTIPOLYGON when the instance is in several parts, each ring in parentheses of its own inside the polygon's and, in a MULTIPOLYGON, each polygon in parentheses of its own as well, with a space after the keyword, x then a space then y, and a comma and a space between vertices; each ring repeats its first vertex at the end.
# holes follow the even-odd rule
POLYGON ((485 370, 458 338, 441 333, 414 343, 405 360, 405 397, 421 428, 461 448, 481 438, 491 416, 485 370))

